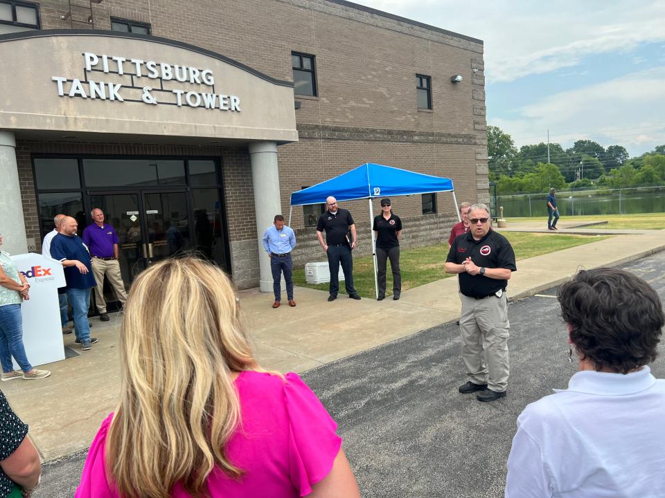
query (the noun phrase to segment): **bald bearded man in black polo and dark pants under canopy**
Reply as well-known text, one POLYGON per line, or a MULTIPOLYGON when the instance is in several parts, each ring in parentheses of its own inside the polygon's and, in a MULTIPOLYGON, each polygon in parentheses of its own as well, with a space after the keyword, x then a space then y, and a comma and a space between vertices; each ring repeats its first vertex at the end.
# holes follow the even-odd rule
POLYGON ((319 216, 317 224, 317 239, 326 255, 328 256, 328 268, 330 268, 330 296, 328 301, 337 299, 339 291, 339 264, 342 263, 344 271, 344 286, 348 297, 360 299, 355 288, 353 288, 353 259, 351 250, 357 245, 355 234, 355 223, 351 218, 351 213, 342 208, 337 208, 337 199, 328 197, 326 199, 328 211, 319 216), (326 230, 326 242, 323 242, 323 230, 326 230), (351 231, 351 240, 348 233, 351 231))

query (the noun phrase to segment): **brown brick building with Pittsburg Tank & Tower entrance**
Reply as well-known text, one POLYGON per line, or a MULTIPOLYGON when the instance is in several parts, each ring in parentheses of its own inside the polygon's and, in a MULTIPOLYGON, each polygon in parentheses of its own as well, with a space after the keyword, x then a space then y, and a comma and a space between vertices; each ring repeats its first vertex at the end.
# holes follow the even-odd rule
MULTIPOLYGON (((81 231, 101 207, 125 282, 196 248, 238 287, 270 288, 260 237, 294 190, 373 162, 452 178, 460 202, 489 200, 482 42, 386 12, 343 0, 0 0, 0 60, 12 252, 39 250, 57 212, 81 231)), ((366 201, 344 207, 370 252, 366 201)), ((406 246, 445 241, 456 221, 450 194, 393 199, 393 210, 406 246)), ((293 210, 296 265, 325 260, 320 212, 293 210)))

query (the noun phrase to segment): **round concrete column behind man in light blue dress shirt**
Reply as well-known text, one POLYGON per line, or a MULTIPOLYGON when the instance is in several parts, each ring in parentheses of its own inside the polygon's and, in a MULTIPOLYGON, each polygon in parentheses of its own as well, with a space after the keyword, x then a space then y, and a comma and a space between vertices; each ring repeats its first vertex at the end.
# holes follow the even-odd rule
POLYGON ((270 260, 263 248, 263 232, 281 213, 276 142, 253 142, 249 145, 251 179, 254 185, 254 211, 258 234, 258 264, 261 270, 261 292, 272 292, 270 260))

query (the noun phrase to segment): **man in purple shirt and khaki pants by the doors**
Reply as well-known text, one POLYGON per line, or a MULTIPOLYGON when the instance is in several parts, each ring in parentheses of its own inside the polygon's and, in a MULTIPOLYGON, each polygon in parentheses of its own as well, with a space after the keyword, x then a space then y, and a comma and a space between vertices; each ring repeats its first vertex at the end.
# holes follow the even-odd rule
POLYGON ((118 234, 111 225, 104 223, 104 212, 102 210, 95 208, 90 214, 94 223, 87 225, 83 230, 83 242, 88 246, 92 256, 92 273, 97 282, 95 300, 99 311, 99 319, 102 322, 108 322, 109 315, 106 312, 106 301, 104 299, 104 275, 109 279, 109 284, 118 296, 118 301, 123 306, 127 301, 125 284, 118 263, 118 234))

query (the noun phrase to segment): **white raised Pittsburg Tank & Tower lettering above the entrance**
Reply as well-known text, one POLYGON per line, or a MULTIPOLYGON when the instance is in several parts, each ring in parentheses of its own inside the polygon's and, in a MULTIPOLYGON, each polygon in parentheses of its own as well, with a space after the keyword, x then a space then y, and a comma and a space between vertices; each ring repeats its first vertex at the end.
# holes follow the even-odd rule
POLYGON ((85 71, 83 79, 51 77, 56 84, 57 95, 240 112, 240 98, 237 95, 215 91, 215 76, 210 69, 143 61, 117 55, 109 57, 91 52, 83 54, 83 62, 85 71), (121 76, 125 83, 105 81, 105 75, 121 76), (165 82, 177 82, 182 85, 172 88, 167 83, 165 87, 165 82))

